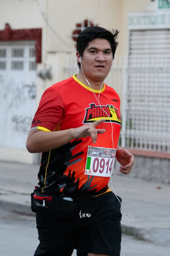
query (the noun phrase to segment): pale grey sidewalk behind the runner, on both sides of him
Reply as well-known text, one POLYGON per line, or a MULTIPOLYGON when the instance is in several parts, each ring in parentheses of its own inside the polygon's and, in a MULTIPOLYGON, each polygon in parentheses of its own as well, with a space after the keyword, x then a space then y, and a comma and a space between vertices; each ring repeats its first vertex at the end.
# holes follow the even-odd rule
MULTIPOLYGON (((30 193, 37 185, 38 171, 38 165, 0 161, 0 207, 34 215, 30 193)), ((169 245, 170 185, 113 173, 110 188, 123 199, 123 233, 158 245, 169 245)))

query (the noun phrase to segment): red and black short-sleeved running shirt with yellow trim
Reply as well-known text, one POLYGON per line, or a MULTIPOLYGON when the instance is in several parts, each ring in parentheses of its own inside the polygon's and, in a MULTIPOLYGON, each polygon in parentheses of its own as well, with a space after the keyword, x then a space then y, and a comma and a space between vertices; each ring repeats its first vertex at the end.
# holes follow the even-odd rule
POLYGON ((73 76, 55 83, 44 92, 31 129, 67 130, 100 119, 105 119, 105 122, 97 128, 106 131, 98 135, 97 143, 93 144, 89 136, 42 153, 38 175, 42 192, 99 192, 107 187, 109 177, 85 174, 87 150, 88 146, 117 148, 121 128, 120 98, 106 84, 101 91, 92 91, 73 76))

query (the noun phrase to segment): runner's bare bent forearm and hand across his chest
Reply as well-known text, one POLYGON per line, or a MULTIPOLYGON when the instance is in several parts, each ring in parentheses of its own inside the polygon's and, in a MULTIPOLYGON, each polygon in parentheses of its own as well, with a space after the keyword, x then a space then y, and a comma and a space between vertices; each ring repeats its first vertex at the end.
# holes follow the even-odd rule
POLYGON ((29 131, 26 148, 30 153, 39 153, 54 150, 78 138, 91 136, 92 142, 96 143, 97 135, 105 133, 105 129, 97 129, 96 126, 105 120, 98 120, 78 128, 70 128, 62 131, 42 131, 33 129, 29 131))

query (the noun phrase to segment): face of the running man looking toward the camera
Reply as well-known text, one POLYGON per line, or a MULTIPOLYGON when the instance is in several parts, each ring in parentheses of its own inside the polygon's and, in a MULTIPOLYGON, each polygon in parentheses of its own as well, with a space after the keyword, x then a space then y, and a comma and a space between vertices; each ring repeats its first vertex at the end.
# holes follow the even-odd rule
POLYGON ((113 61, 109 41, 99 38, 93 39, 85 48, 81 60, 85 77, 91 82, 101 81, 103 83, 113 61))

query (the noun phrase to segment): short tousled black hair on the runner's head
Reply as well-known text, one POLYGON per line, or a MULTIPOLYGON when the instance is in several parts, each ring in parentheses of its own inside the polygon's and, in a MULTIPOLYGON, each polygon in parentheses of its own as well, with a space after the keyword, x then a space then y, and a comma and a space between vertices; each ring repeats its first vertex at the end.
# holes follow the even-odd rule
POLYGON ((85 28, 77 38, 77 51, 78 53, 80 53, 80 56, 83 56, 83 52, 85 48, 87 48, 88 43, 92 42, 93 39, 97 39, 97 38, 106 39, 110 43, 111 51, 114 59, 115 51, 118 46, 118 42, 116 42, 118 33, 119 31, 117 29, 111 32, 105 28, 98 27, 98 26, 90 26, 88 28, 85 28))

